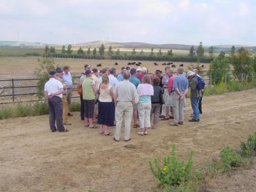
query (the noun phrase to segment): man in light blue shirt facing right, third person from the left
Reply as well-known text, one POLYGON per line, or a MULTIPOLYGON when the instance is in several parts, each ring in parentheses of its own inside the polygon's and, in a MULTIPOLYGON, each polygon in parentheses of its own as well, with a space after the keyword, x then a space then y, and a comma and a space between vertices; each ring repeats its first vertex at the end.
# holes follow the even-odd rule
MULTIPOLYGON (((65 81, 65 83, 68 85, 67 88, 67 101, 68 101, 68 106, 70 106, 71 104, 71 96, 72 96, 72 86, 73 86, 73 81, 72 81, 72 75, 69 72, 69 67, 65 66, 63 68, 63 71, 65 72, 65 74, 63 75, 62 79, 65 81)), ((73 116, 70 111, 68 112, 69 116, 73 116)))

